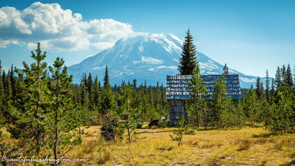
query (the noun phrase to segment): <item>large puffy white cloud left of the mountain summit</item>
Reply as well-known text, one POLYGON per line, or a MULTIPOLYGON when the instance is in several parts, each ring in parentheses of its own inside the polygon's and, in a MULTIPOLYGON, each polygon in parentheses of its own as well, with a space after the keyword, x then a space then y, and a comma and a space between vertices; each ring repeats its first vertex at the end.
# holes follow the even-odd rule
POLYGON ((26 45, 27 49, 75 51, 94 45, 110 48, 118 39, 134 33, 132 26, 113 19, 82 21, 82 15, 63 10, 57 3, 35 2, 19 11, 14 7, 0 8, 0 47, 26 45))

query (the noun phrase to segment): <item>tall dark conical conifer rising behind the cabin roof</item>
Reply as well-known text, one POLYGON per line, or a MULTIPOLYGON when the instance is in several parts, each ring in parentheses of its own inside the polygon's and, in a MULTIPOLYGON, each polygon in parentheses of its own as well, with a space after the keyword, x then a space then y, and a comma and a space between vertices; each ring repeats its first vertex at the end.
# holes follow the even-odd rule
POLYGON ((185 42, 182 45, 182 54, 180 55, 180 62, 178 71, 180 75, 191 75, 197 64, 197 56, 195 51, 195 45, 193 44, 192 35, 190 29, 186 32, 185 42))

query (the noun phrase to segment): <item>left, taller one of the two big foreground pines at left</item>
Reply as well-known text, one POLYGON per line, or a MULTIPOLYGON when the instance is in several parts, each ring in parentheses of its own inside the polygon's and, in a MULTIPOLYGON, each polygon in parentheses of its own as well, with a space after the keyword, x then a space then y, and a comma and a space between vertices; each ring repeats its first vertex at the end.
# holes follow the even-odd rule
MULTIPOLYGON (((15 125, 9 128, 9 131, 14 138, 20 138, 22 144, 29 147, 29 150, 36 150, 37 154, 41 152, 41 147, 45 146, 46 124, 48 119, 46 117, 45 101, 47 95, 45 94, 47 67, 46 62, 42 62, 46 57, 46 51, 41 54, 40 43, 38 42, 37 55, 32 51, 32 58, 36 61, 30 66, 23 62, 25 75, 17 68, 14 71, 23 79, 22 88, 26 89, 26 93, 19 94, 17 100, 12 100, 10 105, 12 108, 12 116, 17 118, 15 125)), ((13 78, 13 77, 10 77, 13 78)), ((9 79, 10 79, 9 78, 9 79)))

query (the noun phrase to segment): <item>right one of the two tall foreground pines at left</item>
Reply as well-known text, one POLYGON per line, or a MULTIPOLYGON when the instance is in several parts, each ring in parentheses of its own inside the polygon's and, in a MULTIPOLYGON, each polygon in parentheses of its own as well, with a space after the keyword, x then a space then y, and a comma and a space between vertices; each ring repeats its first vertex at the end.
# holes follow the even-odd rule
MULTIPOLYGON (((81 137, 78 139, 71 138, 75 135, 74 132, 70 132, 74 128, 78 127, 78 123, 73 119, 71 112, 75 108, 75 106, 71 103, 71 97, 73 92, 70 91, 70 83, 72 82, 73 75, 67 75, 67 67, 61 71, 61 67, 64 65, 65 61, 63 59, 57 57, 56 61, 54 61, 53 67, 56 70, 53 70, 51 66, 49 66, 49 71, 52 73, 52 78, 54 81, 48 82, 49 94, 51 97, 50 107, 51 110, 51 118, 54 120, 53 128, 51 128, 52 132, 52 141, 53 143, 50 145, 53 147, 53 155, 54 159, 57 160, 59 158, 59 154, 61 154, 61 150, 65 153, 69 152, 73 149, 71 145, 80 144, 81 137)), ((64 154, 61 154, 63 156, 64 154)), ((55 166, 58 166, 59 163, 55 163, 55 166)))

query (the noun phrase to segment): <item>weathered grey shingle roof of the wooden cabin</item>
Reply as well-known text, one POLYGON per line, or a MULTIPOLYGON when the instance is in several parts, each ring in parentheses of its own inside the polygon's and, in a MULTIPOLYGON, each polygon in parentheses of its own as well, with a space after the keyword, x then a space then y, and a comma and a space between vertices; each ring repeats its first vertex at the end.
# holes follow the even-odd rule
MULTIPOLYGON (((214 80, 217 78, 221 79, 222 75, 203 75, 203 84, 207 84, 207 92, 211 95, 213 94, 214 80)), ((189 93, 191 90, 187 87, 187 81, 191 80, 191 75, 167 75, 167 85, 166 85, 166 99, 178 99, 178 100, 190 100, 189 93)), ((233 100, 241 100, 241 87, 238 74, 224 75, 225 83, 227 86, 227 93, 225 96, 230 96, 233 100)), ((214 99, 210 96, 211 99, 214 99)), ((209 99, 207 97, 206 99, 209 99)))

